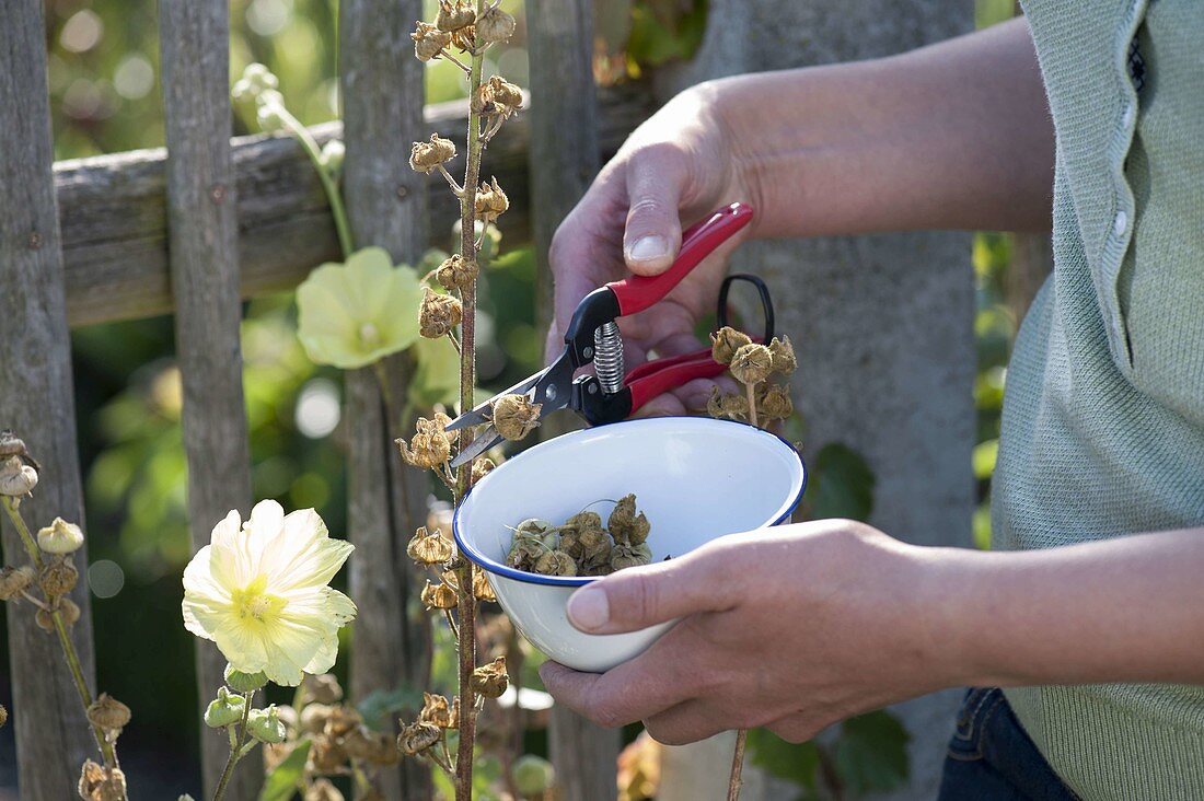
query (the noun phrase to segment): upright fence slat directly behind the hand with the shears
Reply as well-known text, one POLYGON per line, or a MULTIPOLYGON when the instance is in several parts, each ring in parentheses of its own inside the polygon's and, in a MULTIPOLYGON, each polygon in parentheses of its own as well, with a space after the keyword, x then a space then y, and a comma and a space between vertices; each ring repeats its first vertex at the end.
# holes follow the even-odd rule
MULTIPOLYGON (((551 320, 548 247, 560 222, 598 171, 598 108, 594 88, 594 6, 585 0, 527 0, 531 93, 531 208, 538 260, 539 322, 551 320)), ((556 706, 551 761, 566 799, 612 799, 619 732, 556 706)))

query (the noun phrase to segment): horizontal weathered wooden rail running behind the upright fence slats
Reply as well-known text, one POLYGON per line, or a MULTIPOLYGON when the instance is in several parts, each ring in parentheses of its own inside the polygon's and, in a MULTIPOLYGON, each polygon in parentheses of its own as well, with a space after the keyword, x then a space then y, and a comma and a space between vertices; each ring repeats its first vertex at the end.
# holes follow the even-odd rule
MULTIPOLYGON (((603 99, 600 141, 603 153, 613 153, 648 116, 649 101, 630 88, 603 99)), ((430 106, 426 129, 462 139, 465 112, 464 102, 430 106)), ((340 136, 342 126, 330 123, 312 130, 324 143, 340 136)), ((501 218, 507 242, 525 241, 527 234, 529 132, 527 114, 520 113, 489 143, 489 170, 510 198, 510 210, 501 218)), ((408 148, 409 140, 394 132, 389 142, 408 148)), ((72 326, 171 311, 164 160, 163 149, 149 149, 55 166, 72 326)), ((290 289, 318 264, 340 258, 325 195, 296 142, 285 136, 238 137, 234 165, 244 298, 290 289)), ((425 183, 423 176, 414 179, 418 183, 402 185, 418 192, 425 185, 435 196, 431 243, 447 248, 459 219, 455 204, 447 201, 447 184, 438 175, 425 183)))

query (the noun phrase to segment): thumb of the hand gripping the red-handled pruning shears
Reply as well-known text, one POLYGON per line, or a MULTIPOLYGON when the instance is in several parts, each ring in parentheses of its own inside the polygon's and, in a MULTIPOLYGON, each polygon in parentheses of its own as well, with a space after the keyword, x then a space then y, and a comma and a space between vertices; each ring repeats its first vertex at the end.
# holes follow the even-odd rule
POLYGON ((687 176, 684 158, 667 147, 649 147, 627 160, 628 207, 622 257, 636 275, 665 272, 681 247, 678 202, 687 176))

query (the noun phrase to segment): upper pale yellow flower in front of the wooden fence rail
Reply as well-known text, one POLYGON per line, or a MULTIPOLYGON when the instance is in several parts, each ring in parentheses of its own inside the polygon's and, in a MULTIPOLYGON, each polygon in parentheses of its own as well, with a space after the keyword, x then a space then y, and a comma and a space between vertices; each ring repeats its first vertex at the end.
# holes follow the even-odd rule
POLYGON ((384 248, 324 264, 297 287, 297 337, 317 364, 362 367, 418 340, 418 273, 384 248))

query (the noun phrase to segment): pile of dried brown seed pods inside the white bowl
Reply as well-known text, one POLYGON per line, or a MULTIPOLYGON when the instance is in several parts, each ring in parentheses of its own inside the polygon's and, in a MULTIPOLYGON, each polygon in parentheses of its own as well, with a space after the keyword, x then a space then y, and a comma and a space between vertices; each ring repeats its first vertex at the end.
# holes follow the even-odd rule
POLYGON ((589 508, 560 525, 529 518, 514 526, 506 564, 543 576, 608 576, 653 560, 648 547, 651 528, 635 495, 614 503, 606 525, 602 516, 589 508))

